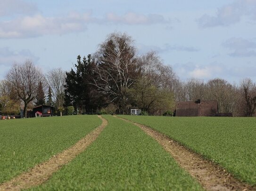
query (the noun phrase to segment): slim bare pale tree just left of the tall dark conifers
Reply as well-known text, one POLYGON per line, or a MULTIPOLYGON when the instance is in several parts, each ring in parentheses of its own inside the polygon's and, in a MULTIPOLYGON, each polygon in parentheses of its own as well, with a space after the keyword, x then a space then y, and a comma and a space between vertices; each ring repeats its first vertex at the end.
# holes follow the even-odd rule
POLYGON ((66 72, 61 68, 52 69, 47 73, 46 78, 53 95, 53 102, 60 112, 60 116, 62 116, 62 111, 64 110, 66 72))

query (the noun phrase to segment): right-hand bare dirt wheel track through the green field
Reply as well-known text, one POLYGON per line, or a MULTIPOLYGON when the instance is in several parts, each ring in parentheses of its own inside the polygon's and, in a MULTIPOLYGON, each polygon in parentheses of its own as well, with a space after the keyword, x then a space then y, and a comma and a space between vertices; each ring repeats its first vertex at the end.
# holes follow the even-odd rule
MULTIPOLYGON (((123 120, 131 122, 126 119, 123 120)), ((156 139, 168 153, 171 153, 182 168, 187 170, 191 176, 198 180, 204 189, 209 191, 256 191, 256 186, 252 187, 246 183, 240 182, 223 168, 209 160, 203 159, 199 154, 193 153, 167 136, 139 123, 132 123, 140 127, 140 129, 149 136, 156 139)))

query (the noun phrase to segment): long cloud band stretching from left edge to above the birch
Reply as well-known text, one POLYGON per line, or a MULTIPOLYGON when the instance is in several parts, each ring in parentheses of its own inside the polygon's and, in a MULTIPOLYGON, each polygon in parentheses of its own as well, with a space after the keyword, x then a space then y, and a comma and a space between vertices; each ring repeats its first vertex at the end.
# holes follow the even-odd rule
POLYGON ((0 22, 0 38, 30 38, 85 31, 88 23, 155 24, 163 22, 167 21, 161 15, 140 15, 132 12, 123 16, 111 13, 104 18, 95 18, 90 12, 84 14, 71 12, 63 17, 44 17, 36 14, 0 22))

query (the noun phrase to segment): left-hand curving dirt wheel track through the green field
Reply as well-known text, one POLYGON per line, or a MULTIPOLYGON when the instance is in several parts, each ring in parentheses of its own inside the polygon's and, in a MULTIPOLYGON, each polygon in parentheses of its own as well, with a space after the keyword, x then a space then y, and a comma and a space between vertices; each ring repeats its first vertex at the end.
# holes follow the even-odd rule
POLYGON ((19 191, 32 186, 39 185, 47 181, 52 173, 56 172, 66 163, 74 159, 75 156, 82 153, 99 136, 100 132, 107 126, 107 120, 98 115, 102 124, 91 133, 79 140, 75 145, 63 151, 62 153, 52 156, 50 160, 45 161, 26 173, 23 173, 13 180, 0 184, 0 191, 19 191))

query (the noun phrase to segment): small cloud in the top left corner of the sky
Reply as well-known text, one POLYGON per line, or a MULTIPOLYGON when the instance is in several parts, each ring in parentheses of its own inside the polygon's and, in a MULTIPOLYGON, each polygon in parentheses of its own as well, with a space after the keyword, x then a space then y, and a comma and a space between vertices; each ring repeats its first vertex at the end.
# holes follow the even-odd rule
POLYGON ((37 11, 33 3, 24 0, 0 0, 0 16, 30 14, 37 11))

